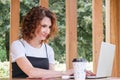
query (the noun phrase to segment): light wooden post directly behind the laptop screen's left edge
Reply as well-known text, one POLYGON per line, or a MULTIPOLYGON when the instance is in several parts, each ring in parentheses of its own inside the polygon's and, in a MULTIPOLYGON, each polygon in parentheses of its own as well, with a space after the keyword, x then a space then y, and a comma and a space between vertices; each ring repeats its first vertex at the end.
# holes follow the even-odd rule
POLYGON ((93 69, 97 70, 100 45, 103 41, 102 0, 92 0, 93 69))

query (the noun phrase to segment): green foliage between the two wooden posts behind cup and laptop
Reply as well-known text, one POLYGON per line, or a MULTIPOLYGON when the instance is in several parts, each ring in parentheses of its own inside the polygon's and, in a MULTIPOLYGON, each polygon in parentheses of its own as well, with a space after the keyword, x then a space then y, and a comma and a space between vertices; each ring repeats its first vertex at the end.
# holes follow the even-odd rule
POLYGON ((78 54, 92 61, 92 0, 78 1, 78 54))

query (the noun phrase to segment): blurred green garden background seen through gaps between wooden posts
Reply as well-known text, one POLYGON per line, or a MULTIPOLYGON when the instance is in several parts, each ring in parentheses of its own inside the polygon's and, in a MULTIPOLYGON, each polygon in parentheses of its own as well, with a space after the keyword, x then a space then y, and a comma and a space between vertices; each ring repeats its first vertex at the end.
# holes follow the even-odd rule
MULTIPOLYGON (((20 0, 20 23, 22 17, 37 5, 39 5, 39 0, 20 0)), ((88 60, 90 63, 88 69, 92 70, 92 0, 78 0, 77 5, 78 54, 79 57, 88 60)), ((55 68, 65 70, 65 0, 49 0, 49 8, 56 13, 59 28, 57 36, 49 42, 55 51, 55 68)), ((103 15, 105 16, 104 13, 105 0, 103 0, 103 15)), ((0 77, 9 77, 9 31, 10 0, 0 0, 0 77)))

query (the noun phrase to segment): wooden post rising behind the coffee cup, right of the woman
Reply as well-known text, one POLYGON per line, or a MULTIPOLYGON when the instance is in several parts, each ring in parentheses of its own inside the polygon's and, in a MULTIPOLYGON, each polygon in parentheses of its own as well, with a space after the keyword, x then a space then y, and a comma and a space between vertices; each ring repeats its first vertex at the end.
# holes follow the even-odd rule
POLYGON ((77 0, 66 0, 66 64, 72 68, 77 57, 77 0))

